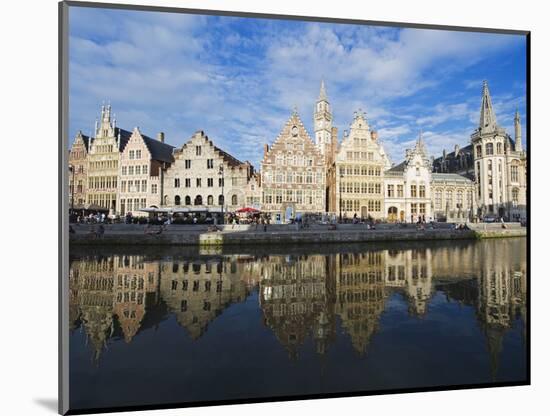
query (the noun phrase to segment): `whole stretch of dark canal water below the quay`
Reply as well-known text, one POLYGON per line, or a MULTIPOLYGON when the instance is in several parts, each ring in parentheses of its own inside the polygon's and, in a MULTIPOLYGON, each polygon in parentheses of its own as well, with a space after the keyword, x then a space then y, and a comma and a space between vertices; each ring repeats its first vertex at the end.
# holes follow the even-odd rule
POLYGON ((75 248, 72 409, 526 379, 526 239, 75 248))

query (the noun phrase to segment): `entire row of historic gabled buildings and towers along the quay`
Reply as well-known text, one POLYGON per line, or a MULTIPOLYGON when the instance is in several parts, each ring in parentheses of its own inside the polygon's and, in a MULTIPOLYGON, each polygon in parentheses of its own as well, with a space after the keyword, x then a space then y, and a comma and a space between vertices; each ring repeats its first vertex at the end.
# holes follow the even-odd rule
POLYGON ((525 218, 519 114, 512 139, 497 124, 486 82, 469 144, 438 158, 428 155, 420 134, 405 159, 392 164, 361 111, 339 141, 323 82, 313 120, 312 137, 294 110, 264 146, 258 172, 203 131, 174 148, 163 133, 153 139, 117 127, 110 105, 103 106, 94 137, 79 132, 70 149, 70 206, 121 216, 151 210, 211 216, 253 207, 274 222, 304 214, 401 222, 525 218))

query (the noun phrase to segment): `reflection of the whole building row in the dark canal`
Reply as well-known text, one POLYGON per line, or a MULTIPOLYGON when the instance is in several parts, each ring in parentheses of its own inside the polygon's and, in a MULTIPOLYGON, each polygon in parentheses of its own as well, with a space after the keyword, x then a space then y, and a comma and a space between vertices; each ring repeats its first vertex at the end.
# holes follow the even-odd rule
POLYGON ((336 319, 364 354, 388 297, 402 294, 409 314, 422 318, 437 289, 476 307, 496 356, 513 319, 525 319, 525 267, 524 245, 512 240, 335 254, 84 256, 71 262, 70 324, 84 328, 99 359, 116 329, 132 341, 148 309, 164 304, 196 340, 258 288, 263 323, 289 357, 296 358, 308 336, 325 353, 336 319))

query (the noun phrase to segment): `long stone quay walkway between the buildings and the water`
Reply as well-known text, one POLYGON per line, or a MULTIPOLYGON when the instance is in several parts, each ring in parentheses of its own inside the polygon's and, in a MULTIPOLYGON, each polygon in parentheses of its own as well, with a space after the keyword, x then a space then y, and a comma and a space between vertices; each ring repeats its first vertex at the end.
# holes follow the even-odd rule
POLYGON ((455 230, 450 223, 427 224, 377 224, 369 229, 364 224, 315 224, 308 228, 296 225, 218 225, 217 231, 208 225, 147 226, 137 224, 105 224, 103 234, 98 225, 72 225, 72 244, 93 245, 255 245, 255 244, 322 244, 355 243, 369 241, 419 241, 455 240, 494 237, 526 236, 526 228, 519 223, 468 224, 467 230, 455 230))

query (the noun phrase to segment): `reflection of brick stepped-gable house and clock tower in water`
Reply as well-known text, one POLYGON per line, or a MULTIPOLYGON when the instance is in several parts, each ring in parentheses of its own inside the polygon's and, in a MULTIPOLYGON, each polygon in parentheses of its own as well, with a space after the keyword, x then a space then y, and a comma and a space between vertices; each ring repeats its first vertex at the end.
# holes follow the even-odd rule
POLYGON ((334 331, 328 305, 324 256, 274 256, 266 261, 260 282, 260 306, 265 324, 296 358, 298 348, 313 335, 324 354, 334 331))

